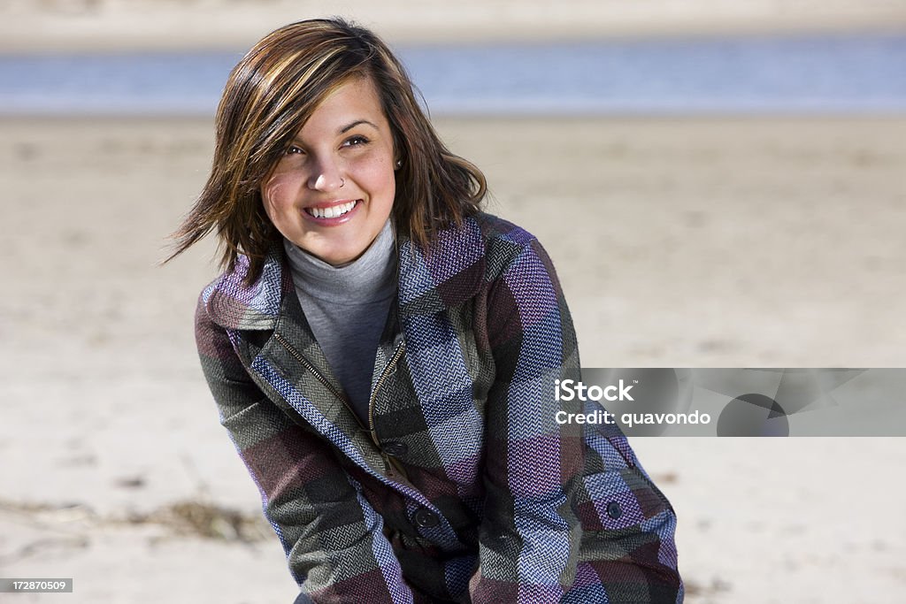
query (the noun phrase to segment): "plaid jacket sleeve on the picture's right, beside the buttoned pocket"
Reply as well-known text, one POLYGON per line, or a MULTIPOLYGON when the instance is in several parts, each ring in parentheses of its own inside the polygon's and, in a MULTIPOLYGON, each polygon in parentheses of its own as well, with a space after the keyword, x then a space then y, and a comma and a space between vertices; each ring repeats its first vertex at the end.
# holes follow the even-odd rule
POLYGON ((553 266, 535 240, 491 283, 487 340, 496 379, 487 397, 486 502, 476 604, 555 602, 573 583, 582 537, 573 509, 583 467, 576 413, 554 380, 579 379, 573 323, 553 266))

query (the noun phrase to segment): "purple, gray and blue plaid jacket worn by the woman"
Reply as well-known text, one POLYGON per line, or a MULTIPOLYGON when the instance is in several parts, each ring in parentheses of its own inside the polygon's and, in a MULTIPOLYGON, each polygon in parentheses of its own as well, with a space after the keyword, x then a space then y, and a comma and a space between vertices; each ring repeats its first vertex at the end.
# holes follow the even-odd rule
POLYGON ((197 340, 220 421, 315 602, 679 602, 670 503, 619 432, 559 425, 573 324, 532 235, 468 218, 399 290, 361 425, 282 252, 202 292, 197 340))

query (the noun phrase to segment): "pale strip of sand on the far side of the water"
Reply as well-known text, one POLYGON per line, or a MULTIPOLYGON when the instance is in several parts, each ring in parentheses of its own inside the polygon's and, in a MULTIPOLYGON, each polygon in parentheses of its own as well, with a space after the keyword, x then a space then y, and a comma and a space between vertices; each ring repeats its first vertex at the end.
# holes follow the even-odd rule
POLYGON ((333 14, 391 43, 906 30, 897 0, 5 0, 0 53, 243 49, 333 14))

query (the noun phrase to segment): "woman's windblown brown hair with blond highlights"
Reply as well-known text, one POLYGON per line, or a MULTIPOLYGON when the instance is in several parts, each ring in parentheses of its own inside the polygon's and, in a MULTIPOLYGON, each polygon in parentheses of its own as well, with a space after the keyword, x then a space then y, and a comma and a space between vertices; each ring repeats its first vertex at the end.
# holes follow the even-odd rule
POLYGON ((390 215, 397 234, 425 249, 439 229, 477 212, 484 175, 440 141, 388 46, 342 19, 312 19, 267 34, 230 72, 217 107, 211 173, 173 234, 169 258, 216 229, 222 267, 232 271, 245 254, 246 283, 254 283, 281 238, 265 215, 261 183, 318 104, 357 77, 374 82, 402 162, 390 215))

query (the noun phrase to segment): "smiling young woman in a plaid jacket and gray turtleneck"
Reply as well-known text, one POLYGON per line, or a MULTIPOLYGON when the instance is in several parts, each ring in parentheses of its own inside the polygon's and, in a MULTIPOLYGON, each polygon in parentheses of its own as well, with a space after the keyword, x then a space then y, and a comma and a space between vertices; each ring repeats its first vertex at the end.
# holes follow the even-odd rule
POLYGON ((361 27, 287 25, 226 82, 177 254, 223 246, 198 350, 298 601, 680 601, 626 439, 556 421, 573 324, 485 189, 361 27))

